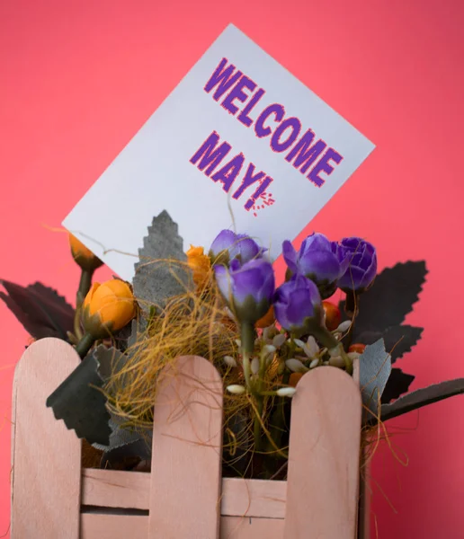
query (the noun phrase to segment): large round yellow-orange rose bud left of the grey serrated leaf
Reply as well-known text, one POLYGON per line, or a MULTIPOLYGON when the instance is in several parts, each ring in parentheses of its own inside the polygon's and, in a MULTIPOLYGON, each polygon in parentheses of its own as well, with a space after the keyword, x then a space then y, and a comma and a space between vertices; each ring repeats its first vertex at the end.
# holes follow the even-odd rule
POLYGON ((136 305, 129 285, 114 278, 102 285, 92 285, 85 296, 83 311, 85 331, 101 339, 127 325, 136 315, 136 305))

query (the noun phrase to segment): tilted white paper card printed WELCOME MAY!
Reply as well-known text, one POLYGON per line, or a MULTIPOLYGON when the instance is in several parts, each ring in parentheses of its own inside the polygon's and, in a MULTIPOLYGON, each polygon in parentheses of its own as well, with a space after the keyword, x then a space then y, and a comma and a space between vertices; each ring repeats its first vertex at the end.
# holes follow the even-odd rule
POLYGON ((276 258, 373 148, 229 25, 63 225, 127 280, 164 209, 185 250, 235 226, 276 258))

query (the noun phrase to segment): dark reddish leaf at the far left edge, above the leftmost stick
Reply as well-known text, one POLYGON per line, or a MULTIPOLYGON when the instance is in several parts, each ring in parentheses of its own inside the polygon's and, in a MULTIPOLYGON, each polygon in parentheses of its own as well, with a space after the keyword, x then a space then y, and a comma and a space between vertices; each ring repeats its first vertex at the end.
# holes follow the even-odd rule
POLYGON ((64 297, 41 283, 22 287, 2 280, 0 284, 6 291, 0 297, 34 339, 67 340, 67 331, 73 331, 74 308, 64 297))

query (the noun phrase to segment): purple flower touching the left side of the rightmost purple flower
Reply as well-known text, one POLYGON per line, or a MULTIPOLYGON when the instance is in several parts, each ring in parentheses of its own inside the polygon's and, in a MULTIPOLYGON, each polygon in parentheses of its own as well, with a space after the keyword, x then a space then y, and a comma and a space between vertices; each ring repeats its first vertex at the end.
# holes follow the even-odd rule
POLYGON ((344 252, 324 234, 308 235, 301 243, 299 252, 286 241, 282 245, 282 252, 290 274, 299 273, 313 280, 323 299, 334 294, 337 280, 344 275, 348 267, 344 252))

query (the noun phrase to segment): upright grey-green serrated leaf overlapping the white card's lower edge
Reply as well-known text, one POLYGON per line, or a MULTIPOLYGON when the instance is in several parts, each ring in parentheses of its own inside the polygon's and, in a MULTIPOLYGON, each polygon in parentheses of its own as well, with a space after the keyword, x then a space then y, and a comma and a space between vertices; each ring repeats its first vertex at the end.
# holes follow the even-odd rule
POLYGON ((133 287, 145 314, 150 305, 163 309, 171 297, 181 295, 189 286, 190 271, 183 264, 169 263, 185 262, 187 257, 178 226, 166 211, 154 217, 138 256, 133 287))

